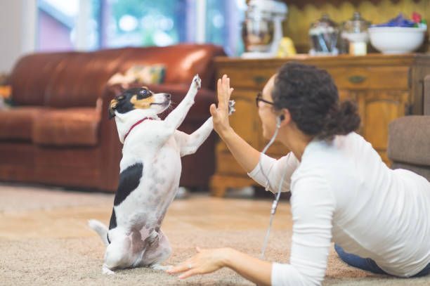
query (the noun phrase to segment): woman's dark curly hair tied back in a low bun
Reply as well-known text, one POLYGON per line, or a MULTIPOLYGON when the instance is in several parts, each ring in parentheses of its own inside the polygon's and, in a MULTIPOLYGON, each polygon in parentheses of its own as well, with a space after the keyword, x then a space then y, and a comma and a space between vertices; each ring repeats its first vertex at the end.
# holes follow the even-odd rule
POLYGON ((297 128, 309 136, 331 140, 360 126, 356 104, 339 103, 330 74, 312 65, 282 65, 275 77, 272 98, 275 110, 289 110, 297 128))

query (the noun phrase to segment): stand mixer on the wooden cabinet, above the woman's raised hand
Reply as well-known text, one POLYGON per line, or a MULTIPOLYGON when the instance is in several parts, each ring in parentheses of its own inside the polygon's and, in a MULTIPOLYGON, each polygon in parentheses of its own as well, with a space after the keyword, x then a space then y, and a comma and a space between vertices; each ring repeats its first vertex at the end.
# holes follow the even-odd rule
POLYGON ((287 4, 276 0, 251 0, 242 23, 245 53, 242 58, 273 58, 282 39, 287 4))

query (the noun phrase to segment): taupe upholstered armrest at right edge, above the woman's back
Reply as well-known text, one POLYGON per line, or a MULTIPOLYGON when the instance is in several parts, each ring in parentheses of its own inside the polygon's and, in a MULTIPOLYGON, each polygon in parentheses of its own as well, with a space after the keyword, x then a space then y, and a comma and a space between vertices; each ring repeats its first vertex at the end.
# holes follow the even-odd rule
POLYGON ((388 157, 394 162, 430 166, 430 116, 400 117, 389 124, 388 157))

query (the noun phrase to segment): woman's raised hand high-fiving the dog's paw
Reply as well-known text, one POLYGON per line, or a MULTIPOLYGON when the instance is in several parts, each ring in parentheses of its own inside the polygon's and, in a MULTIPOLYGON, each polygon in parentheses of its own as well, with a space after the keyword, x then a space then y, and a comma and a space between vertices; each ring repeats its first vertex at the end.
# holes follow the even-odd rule
POLYGON ((230 123, 228 122, 228 100, 233 89, 230 88, 230 79, 226 74, 217 82, 218 90, 218 107, 215 104, 211 104, 210 112, 212 120, 214 122, 214 129, 216 133, 223 137, 223 134, 230 129, 230 123))

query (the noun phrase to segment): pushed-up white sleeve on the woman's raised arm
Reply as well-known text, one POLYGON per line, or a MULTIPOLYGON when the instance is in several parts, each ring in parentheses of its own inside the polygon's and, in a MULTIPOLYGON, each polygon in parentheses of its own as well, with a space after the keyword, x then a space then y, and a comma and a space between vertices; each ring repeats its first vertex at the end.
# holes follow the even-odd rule
POLYGON ((292 152, 279 160, 261 154, 259 164, 248 173, 248 176, 272 193, 278 193, 282 176, 284 176, 281 191, 288 192, 291 176, 298 166, 299 160, 292 152))

